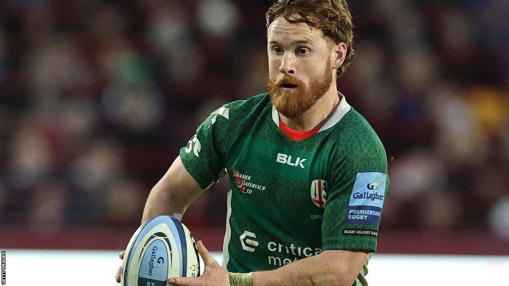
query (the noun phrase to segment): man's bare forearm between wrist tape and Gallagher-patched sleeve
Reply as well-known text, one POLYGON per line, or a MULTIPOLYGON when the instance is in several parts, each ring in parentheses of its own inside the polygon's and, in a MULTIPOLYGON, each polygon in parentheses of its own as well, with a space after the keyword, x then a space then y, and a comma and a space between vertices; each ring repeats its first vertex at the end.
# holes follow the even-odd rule
POLYGON ((253 272, 253 286, 350 286, 366 259, 366 253, 359 253, 337 259, 335 254, 322 252, 276 270, 253 272))

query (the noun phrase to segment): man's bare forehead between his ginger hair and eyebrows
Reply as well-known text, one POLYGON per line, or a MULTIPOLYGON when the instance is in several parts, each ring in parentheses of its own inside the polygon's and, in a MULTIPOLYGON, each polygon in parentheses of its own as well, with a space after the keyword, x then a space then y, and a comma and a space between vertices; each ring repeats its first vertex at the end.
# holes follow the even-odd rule
POLYGON ((291 23, 283 16, 278 16, 267 28, 267 39, 270 41, 309 41, 323 38, 320 30, 312 29, 304 22, 291 23))

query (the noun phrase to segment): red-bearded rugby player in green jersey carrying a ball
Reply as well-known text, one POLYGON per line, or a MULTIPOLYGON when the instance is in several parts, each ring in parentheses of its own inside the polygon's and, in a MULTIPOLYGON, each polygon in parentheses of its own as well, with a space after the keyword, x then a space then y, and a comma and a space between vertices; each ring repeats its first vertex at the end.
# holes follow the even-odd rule
MULTIPOLYGON (((336 90, 354 57, 345 0, 280 0, 267 12, 269 93, 223 105, 152 189, 142 223, 182 218, 228 173, 220 267, 175 285, 367 285, 388 189, 380 139, 336 90)), ((119 279, 118 279, 119 280, 119 279)))

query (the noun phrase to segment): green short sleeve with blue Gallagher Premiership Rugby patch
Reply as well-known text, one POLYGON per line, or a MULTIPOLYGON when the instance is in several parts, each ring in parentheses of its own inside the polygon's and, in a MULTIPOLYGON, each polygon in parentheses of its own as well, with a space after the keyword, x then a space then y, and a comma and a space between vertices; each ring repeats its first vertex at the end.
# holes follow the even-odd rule
POLYGON ((376 139, 369 140, 369 144, 364 141, 332 164, 322 222, 324 250, 376 251, 378 226, 389 187, 387 157, 376 139))

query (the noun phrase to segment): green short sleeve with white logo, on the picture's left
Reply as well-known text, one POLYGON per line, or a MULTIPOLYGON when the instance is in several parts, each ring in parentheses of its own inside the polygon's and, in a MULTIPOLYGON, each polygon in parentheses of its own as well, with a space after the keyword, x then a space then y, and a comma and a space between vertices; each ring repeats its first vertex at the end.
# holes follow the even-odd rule
POLYGON ((228 129, 229 108, 221 107, 205 120, 189 139, 187 145, 180 149, 180 158, 191 176, 207 189, 212 183, 224 176, 222 130, 228 129))

